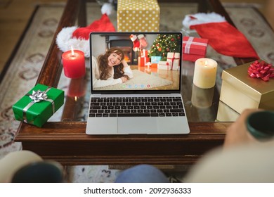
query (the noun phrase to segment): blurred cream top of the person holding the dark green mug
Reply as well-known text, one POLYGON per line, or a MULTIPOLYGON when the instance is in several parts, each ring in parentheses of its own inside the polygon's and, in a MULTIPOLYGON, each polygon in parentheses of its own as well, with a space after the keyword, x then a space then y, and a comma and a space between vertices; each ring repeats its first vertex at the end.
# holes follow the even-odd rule
POLYGON ((274 140, 261 144, 217 148, 204 155, 185 182, 274 182, 274 140))

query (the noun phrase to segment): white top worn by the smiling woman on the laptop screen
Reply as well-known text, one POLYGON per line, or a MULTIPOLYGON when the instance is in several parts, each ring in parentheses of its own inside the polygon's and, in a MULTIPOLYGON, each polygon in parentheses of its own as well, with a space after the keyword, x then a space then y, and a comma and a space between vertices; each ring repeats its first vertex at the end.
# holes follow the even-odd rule
MULTIPOLYGON (((100 80, 100 69, 99 69, 99 63, 96 59, 96 57, 92 56, 92 79, 93 79, 93 87, 107 87, 112 86, 115 84, 122 84, 122 80, 114 79, 114 68, 110 70, 110 77, 107 80, 100 80)), ((129 78, 133 77, 133 72, 129 66, 124 67, 124 75, 128 75, 129 78)))

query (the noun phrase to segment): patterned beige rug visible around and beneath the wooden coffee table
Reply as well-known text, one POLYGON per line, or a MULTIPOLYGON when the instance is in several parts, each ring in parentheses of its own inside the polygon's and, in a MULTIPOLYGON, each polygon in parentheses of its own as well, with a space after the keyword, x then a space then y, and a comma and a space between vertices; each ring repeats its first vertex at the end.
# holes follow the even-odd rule
MULTIPOLYGON (((182 28, 183 15, 195 13, 195 6, 189 4, 183 9, 176 5, 160 5, 161 31, 180 31, 182 28)), ((58 21, 63 12, 63 4, 40 5, 27 29, 25 38, 22 40, 18 52, 0 84, 0 158, 11 151, 18 151, 22 148, 19 142, 14 143, 13 139, 17 132, 19 122, 13 118, 11 106, 18 101, 29 89, 31 89, 41 70, 44 59, 51 44, 53 33, 56 30, 58 21)), ((274 34, 266 21, 254 9, 253 6, 240 6, 239 4, 226 4, 226 10, 233 19, 237 28, 242 31, 247 39, 254 46, 259 56, 268 63, 274 63, 274 34)), ((88 7, 88 23, 100 18, 100 7, 97 4, 88 7)), ((111 15, 112 23, 115 24, 115 15, 111 15)), ((218 87, 221 83, 221 71, 235 66, 233 58, 217 54, 209 46, 207 56, 214 57, 220 65, 218 70, 218 87)), ((185 71, 187 72, 187 71, 185 71)), ((188 74, 188 73, 184 73, 188 74)), ((59 87, 67 90, 68 80, 62 78, 59 87)), ((51 121, 60 120, 62 109, 53 115, 51 121)), ((85 120, 85 113, 79 115, 79 119, 85 120)), ((70 182, 113 182, 120 170, 112 170, 107 165, 98 166, 72 166, 67 167, 68 180, 70 182)), ((170 175, 170 174, 169 174, 170 175)), ((176 174, 176 181, 182 177, 176 174)), ((174 177, 174 176, 172 176, 174 177)), ((174 180, 174 178, 172 178, 174 180)))

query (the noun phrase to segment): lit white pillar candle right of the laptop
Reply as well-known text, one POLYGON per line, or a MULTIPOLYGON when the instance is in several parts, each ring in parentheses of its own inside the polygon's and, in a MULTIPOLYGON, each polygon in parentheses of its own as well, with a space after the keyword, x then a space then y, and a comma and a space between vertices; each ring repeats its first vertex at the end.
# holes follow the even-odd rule
POLYGON ((200 88, 214 87, 216 82, 217 62, 210 58, 195 61, 193 84, 200 88))

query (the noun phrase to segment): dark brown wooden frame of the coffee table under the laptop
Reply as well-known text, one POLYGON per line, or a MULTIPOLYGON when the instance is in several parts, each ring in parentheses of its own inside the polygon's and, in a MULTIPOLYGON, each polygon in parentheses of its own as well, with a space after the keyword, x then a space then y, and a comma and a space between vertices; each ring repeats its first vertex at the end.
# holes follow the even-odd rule
MULTIPOLYGON (((197 2, 200 3, 200 11, 206 11, 210 7, 232 23, 219 1, 197 2)), ((56 36, 63 27, 73 26, 77 18, 79 18, 79 25, 86 25, 85 4, 85 1, 67 1, 37 83, 58 87, 63 65, 61 63, 62 52, 55 42, 56 36)), ((235 61, 240 65, 254 61, 254 59, 235 58, 235 61)), ((183 91, 191 89, 191 78, 189 81, 190 83, 183 84, 185 87, 183 91)), ((83 82, 79 80, 77 83, 80 86, 83 82)), ((183 93, 185 95, 187 92, 183 93)), ((21 141, 23 149, 34 151, 44 159, 56 160, 63 165, 136 165, 140 163, 191 165, 196 163, 206 151, 223 144, 226 129, 231 123, 190 121, 190 134, 188 135, 91 136, 85 134, 86 122, 74 121, 82 99, 84 96, 77 98, 67 96, 63 122, 47 122, 42 128, 21 123, 15 141, 21 141)), ((189 98, 184 98, 184 100, 188 102, 189 98)), ((216 104, 212 108, 216 110, 218 94, 214 94, 214 101, 216 104)), ((191 113, 199 115, 198 110, 191 113)))

